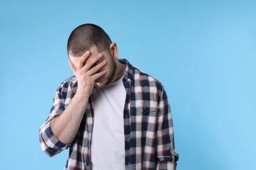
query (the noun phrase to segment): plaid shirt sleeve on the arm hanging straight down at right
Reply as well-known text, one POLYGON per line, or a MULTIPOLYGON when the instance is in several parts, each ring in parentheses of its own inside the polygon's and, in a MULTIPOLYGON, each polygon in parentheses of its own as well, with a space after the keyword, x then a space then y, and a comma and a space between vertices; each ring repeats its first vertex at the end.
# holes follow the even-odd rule
POLYGON ((173 120, 169 101, 162 88, 158 104, 158 124, 156 131, 156 169, 174 170, 179 160, 179 154, 175 152, 175 143, 173 135, 173 120))

